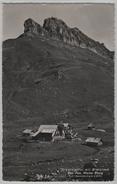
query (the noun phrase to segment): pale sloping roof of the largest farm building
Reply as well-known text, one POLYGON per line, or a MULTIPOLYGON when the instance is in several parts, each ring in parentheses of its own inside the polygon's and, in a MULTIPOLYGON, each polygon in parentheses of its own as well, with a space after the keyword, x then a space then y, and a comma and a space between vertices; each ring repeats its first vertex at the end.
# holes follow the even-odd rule
POLYGON ((33 137, 37 136, 39 133, 52 133, 54 134, 57 130, 58 125, 40 125, 37 132, 33 134, 33 137))

